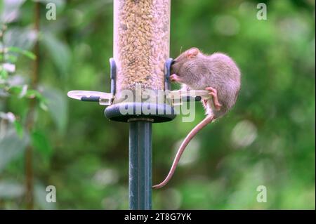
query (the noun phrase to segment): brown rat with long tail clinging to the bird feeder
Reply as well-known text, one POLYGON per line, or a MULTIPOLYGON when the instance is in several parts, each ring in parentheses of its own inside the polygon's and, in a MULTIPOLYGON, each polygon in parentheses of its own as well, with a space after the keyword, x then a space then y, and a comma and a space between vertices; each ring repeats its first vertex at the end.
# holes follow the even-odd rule
POLYGON ((235 105, 240 88, 239 69, 232 58, 223 53, 205 55, 198 48, 190 48, 174 60, 171 74, 170 80, 183 84, 183 90, 207 90, 212 99, 203 100, 206 118, 187 134, 179 147, 168 176, 162 183, 153 186, 156 189, 169 182, 190 140, 204 126, 223 116, 235 105))

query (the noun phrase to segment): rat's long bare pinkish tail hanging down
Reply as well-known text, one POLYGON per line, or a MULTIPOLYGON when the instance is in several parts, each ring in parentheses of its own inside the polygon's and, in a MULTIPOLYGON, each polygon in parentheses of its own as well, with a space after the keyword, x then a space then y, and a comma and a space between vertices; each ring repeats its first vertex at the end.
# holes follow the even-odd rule
POLYGON ((166 178, 164 179, 164 181, 162 181, 162 183, 159 183, 158 185, 154 185, 152 186, 152 188, 154 189, 158 189, 161 187, 164 187, 164 185, 166 185, 169 180, 171 179, 171 177, 173 176, 174 171, 176 171, 176 167, 178 165, 178 162, 180 160, 181 155, 183 154, 185 147, 187 147, 187 144, 190 143, 190 140, 192 140, 192 138, 199 132, 201 131, 207 124, 211 123, 211 121, 213 121, 214 116, 213 115, 209 115, 206 118, 204 118, 201 122, 199 122, 199 124, 197 124, 197 126, 195 126, 194 129, 192 129, 190 131, 190 133, 187 134, 187 137, 185 137, 185 140, 183 140, 183 143, 180 145, 178 152, 176 154, 176 157, 173 160, 173 164, 171 166, 171 169, 168 173, 168 176, 166 176, 166 178))

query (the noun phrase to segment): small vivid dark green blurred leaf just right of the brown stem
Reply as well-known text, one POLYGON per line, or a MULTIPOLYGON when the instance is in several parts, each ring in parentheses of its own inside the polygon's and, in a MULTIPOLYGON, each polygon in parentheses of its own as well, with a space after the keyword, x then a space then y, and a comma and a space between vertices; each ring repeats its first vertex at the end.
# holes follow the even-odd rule
POLYGON ((45 134, 41 131, 33 131, 31 134, 32 146, 44 156, 50 156, 52 153, 51 145, 45 134))

